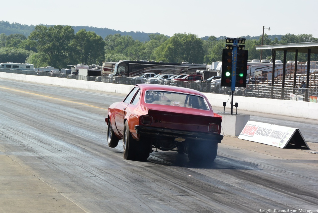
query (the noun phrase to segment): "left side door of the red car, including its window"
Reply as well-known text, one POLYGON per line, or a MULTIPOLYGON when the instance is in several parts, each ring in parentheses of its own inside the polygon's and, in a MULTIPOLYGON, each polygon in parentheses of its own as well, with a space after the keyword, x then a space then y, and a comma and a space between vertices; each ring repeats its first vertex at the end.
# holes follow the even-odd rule
POLYGON ((130 91, 130 93, 126 96, 126 98, 122 102, 118 103, 116 106, 116 109, 114 109, 114 119, 115 119, 116 129, 118 130, 118 133, 121 136, 123 135, 123 131, 124 131, 125 110, 128 104, 131 103, 138 89, 139 87, 134 87, 134 89, 130 91))

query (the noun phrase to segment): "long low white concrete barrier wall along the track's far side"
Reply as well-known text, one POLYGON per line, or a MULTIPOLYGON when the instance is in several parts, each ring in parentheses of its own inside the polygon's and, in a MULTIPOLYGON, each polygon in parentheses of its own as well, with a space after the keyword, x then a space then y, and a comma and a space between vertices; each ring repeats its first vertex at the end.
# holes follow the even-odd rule
MULTIPOLYGON (((13 79, 18 81, 36 82, 51 84, 57 86, 73 87, 80 89, 92 89, 105 92, 128 94, 134 87, 133 85, 122 85, 103 82, 90 82, 74 79, 64 79, 48 76, 22 75, 0 72, 0 78, 13 79)), ((223 102, 227 102, 226 108, 231 108, 229 95, 220 95, 213 93, 204 93, 212 106, 223 107, 223 102)), ((290 117, 301 117, 309 119, 318 119, 318 103, 304 101, 277 100, 269 98, 253 98, 234 96, 234 103, 238 102, 238 109, 262 112, 275 115, 284 115, 290 117)), ((233 111, 236 108, 233 107, 233 111)))

